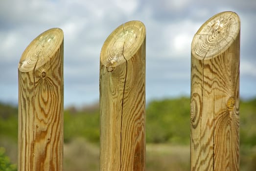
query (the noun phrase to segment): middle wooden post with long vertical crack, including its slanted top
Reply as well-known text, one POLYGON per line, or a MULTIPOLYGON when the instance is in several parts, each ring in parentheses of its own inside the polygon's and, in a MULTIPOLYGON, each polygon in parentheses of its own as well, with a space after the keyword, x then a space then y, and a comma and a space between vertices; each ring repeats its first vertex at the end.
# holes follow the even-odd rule
POLYGON ((102 46, 100 171, 145 170, 145 35, 129 21, 102 46))

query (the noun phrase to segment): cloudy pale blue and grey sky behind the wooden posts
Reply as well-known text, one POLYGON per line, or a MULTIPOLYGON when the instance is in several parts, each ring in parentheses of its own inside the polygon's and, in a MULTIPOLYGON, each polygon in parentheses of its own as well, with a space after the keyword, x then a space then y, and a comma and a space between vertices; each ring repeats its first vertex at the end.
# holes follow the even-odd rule
POLYGON ((18 104, 18 63, 49 28, 64 32, 64 106, 99 100, 99 55, 122 23, 146 27, 146 100, 190 95, 191 42, 213 15, 241 20, 240 97, 256 97, 256 0, 1 0, 0 102, 18 104))

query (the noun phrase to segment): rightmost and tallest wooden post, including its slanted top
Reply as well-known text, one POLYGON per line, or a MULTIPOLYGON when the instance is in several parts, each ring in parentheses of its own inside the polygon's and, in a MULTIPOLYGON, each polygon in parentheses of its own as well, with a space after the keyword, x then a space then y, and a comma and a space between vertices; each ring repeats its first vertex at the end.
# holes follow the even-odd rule
POLYGON ((239 170, 240 19, 206 21, 191 44, 191 171, 239 170))

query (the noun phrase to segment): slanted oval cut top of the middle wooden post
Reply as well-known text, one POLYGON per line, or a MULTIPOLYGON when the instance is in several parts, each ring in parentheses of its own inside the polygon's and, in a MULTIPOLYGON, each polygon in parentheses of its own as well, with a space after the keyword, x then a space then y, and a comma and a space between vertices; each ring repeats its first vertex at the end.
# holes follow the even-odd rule
POLYGON ((140 21, 128 21, 118 26, 104 42, 100 62, 111 72, 117 65, 129 60, 145 40, 146 29, 140 21))

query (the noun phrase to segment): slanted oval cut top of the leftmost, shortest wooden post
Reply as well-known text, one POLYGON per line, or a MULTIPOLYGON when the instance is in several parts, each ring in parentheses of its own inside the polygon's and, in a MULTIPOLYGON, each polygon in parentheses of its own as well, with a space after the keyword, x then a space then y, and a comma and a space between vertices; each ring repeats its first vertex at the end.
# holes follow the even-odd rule
POLYGON ((60 28, 51 28, 36 37, 24 50, 18 69, 28 72, 46 64, 63 43, 64 35, 60 28))

